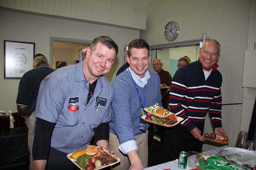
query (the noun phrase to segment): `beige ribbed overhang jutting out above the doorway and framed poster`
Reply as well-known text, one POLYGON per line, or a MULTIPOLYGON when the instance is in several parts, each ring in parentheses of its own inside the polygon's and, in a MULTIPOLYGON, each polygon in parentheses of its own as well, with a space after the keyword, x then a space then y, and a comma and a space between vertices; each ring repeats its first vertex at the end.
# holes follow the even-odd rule
POLYGON ((0 6, 109 26, 146 29, 147 0, 1 0, 0 6), (142 7, 142 8, 141 8, 142 7), (106 15, 107 14, 107 15, 106 15))

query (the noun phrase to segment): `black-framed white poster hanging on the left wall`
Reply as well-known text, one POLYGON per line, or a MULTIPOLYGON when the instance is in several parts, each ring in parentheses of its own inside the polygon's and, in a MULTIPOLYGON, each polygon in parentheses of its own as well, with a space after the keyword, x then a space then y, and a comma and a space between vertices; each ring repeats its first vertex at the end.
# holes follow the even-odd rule
POLYGON ((4 40, 4 79, 20 79, 33 69, 35 43, 4 40))

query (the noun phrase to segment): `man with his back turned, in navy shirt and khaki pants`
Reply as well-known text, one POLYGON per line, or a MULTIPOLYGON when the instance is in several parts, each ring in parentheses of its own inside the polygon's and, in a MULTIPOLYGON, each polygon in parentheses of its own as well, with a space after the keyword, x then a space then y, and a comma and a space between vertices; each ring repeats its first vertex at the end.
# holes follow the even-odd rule
POLYGON ((43 54, 36 54, 33 60, 33 69, 25 73, 19 84, 17 95, 17 110, 21 116, 28 116, 28 150, 29 156, 29 169, 33 169, 32 146, 33 146, 33 129, 35 124, 36 99, 41 81, 54 69, 50 68, 47 58, 43 54))

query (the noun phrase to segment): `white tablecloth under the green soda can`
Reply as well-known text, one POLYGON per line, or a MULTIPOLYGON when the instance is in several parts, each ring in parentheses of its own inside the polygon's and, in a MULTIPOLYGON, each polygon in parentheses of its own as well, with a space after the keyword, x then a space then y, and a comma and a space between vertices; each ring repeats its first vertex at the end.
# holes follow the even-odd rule
MULTIPOLYGON (((216 153, 220 152, 223 148, 226 148, 226 147, 227 146, 218 147, 218 148, 206 151, 206 153, 215 155, 216 153)), ((151 167, 145 168, 144 170, 163 170, 163 169, 168 169, 168 168, 171 169, 171 170, 189 170, 190 169, 189 167, 187 167, 187 169, 180 169, 178 167, 178 161, 179 160, 176 159, 176 160, 173 160, 173 161, 170 161, 170 162, 166 162, 166 163, 163 163, 163 164, 159 164, 159 165, 156 165, 156 166, 151 166, 151 167)), ((197 162, 197 165, 199 165, 198 162, 197 162)))

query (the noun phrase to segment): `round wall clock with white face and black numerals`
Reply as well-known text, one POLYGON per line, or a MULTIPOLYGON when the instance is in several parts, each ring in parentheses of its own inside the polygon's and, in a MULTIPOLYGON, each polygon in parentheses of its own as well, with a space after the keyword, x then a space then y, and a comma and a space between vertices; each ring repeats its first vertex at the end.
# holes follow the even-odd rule
POLYGON ((176 39, 179 36, 179 33, 180 26, 178 23, 170 21, 166 24, 164 28, 164 35, 168 41, 173 41, 174 39, 176 39))

